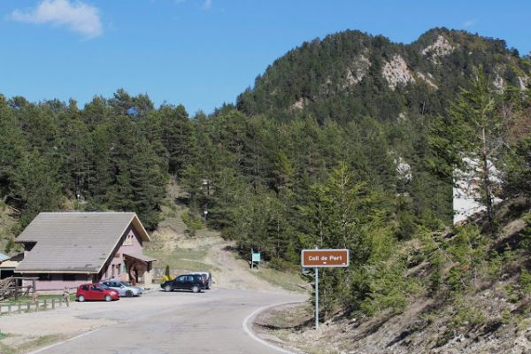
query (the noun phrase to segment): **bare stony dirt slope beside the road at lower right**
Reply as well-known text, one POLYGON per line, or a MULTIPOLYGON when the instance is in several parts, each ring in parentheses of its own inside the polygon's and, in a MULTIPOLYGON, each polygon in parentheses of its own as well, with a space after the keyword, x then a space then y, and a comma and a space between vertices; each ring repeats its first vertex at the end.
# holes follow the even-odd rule
MULTIPOLYGON (((507 213, 511 212, 514 208, 508 208, 507 213)), ((480 272, 477 286, 454 296, 419 293, 409 299, 404 311, 386 310, 373 317, 338 313, 317 330, 312 306, 287 306, 258 316, 255 327, 272 342, 302 353, 529 354, 531 293, 522 289, 520 272, 530 269, 530 258, 520 247, 531 240, 531 225, 529 219, 511 218, 500 218, 503 224, 497 238, 487 239, 493 252, 504 252, 503 272, 499 276, 480 272)))

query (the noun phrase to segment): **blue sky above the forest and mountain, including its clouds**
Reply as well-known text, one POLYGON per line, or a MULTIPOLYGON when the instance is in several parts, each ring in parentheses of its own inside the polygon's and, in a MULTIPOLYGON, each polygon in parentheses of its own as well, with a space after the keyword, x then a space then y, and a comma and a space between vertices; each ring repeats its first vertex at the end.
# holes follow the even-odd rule
POLYGON ((449 27, 531 50, 529 1, 2 0, 0 93, 30 101, 116 89, 212 112, 304 41, 345 29, 412 42, 449 27))

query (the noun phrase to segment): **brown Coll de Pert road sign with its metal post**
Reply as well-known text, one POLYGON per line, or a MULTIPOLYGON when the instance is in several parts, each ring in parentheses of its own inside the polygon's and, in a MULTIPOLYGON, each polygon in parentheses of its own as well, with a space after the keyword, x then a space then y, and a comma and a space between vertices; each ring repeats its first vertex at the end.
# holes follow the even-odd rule
POLYGON ((346 249, 301 250, 301 266, 315 268, 315 328, 319 328, 319 268, 347 267, 350 253, 346 249))

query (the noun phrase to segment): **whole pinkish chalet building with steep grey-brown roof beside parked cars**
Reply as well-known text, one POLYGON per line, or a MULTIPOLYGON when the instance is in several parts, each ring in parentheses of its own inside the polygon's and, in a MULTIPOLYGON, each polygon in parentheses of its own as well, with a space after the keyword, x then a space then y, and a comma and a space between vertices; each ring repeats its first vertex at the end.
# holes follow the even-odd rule
POLYGON ((150 284, 149 241, 134 212, 41 212, 15 240, 24 245, 15 273, 38 277, 36 290, 107 278, 150 284))

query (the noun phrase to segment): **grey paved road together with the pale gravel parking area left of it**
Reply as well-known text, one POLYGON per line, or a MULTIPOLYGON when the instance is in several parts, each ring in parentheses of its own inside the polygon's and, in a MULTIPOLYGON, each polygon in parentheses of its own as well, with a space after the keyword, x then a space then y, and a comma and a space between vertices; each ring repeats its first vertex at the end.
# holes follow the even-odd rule
POLYGON ((159 289, 119 301, 73 303, 69 308, 0 318, 10 336, 4 344, 19 346, 37 336, 59 342, 40 353, 278 353, 257 342, 242 327, 258 309, 304 296, 236 289, 194 294, 159 289))

